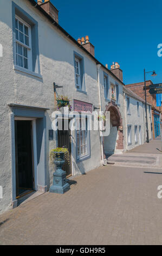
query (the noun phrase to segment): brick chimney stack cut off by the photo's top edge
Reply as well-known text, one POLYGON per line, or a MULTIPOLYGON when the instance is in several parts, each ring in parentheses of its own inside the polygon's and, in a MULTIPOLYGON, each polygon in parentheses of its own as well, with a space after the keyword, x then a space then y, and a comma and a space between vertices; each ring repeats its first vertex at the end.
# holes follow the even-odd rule
POLYGON ((48 13, 57 23, 59 23, 59 11, 54 7, 50 0, 37 0, 37 3, 48 13))

